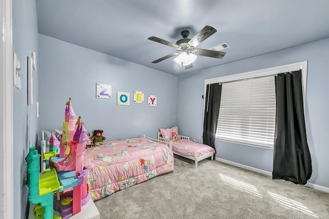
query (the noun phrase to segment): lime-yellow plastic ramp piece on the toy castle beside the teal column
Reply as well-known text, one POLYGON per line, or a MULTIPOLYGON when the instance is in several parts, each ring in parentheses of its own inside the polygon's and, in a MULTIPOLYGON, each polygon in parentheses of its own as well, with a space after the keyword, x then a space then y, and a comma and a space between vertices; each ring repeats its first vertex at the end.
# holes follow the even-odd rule
POLYGON ((63 188, 63 186, 61 186, 60 182, 58 181, 55 169, 45 170, 43 173, 40 174, 39 180, 40 196, 63 188))

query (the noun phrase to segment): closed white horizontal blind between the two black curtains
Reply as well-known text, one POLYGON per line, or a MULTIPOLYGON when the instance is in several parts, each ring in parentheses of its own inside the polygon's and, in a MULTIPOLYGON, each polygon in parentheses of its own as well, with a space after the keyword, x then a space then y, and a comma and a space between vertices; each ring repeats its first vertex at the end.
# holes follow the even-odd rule
POLYGON ((275 121, 274 76, 222 85, 216 140, 273 148, 275 121))

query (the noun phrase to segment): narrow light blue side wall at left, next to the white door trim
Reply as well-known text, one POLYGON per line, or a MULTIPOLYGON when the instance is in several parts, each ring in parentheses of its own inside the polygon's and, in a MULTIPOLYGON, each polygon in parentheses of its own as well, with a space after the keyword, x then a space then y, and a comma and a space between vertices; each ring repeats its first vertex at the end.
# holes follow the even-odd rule
POLYGON ((14 218, 24 218, 28 203, 25 157, 28 148, 38 141, 38 119, 35 116, 35 102, 39 98, 39 72, 34 72, 33 105, 27 105, 27 57, 32 51, 39 56, 38 25, 34 0, 13 0, 12 40, 13 51, 21 61, 22 88, 13 87, 13 145, 14 145, 14 218))

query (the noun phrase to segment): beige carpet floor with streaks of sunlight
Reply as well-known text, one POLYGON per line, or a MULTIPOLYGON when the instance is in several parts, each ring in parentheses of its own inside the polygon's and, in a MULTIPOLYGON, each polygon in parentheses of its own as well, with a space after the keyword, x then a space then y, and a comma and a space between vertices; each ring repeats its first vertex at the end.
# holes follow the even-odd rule
POLYGON ((175 155, 175 171, 95 202, 101 218, 329 218, 329 193, 175 155))

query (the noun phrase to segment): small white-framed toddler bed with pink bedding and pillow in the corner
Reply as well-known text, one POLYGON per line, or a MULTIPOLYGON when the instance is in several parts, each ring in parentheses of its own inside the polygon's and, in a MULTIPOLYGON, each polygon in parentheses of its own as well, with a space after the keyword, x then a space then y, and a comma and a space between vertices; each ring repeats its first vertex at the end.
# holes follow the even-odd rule
POLYGON ((160 129, 158 132, 158 141, 167 141, 170 143, 170 149, 174 154, 195 161, 195 168, 197 168, 197 162, 211 157, 214 158, 215 150, 209 145, 196 143, 191 141, 189 137, 178 135, 178 127, 172 127, 171 129, 160 129))

